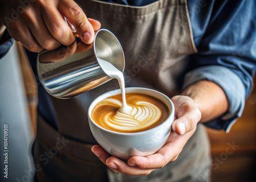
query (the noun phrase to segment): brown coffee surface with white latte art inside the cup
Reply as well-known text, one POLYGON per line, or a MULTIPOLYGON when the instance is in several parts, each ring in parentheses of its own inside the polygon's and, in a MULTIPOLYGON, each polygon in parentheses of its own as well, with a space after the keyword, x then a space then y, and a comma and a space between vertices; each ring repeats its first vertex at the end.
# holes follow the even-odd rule
POLYGON ((167 106, 159 99, 138 93, 126 93, 132 109, 121 112, 121 94, 106 98, 94 107, 92 119, 101 127, 115 132, 134 133, 153 128, 169 116, 167 106))

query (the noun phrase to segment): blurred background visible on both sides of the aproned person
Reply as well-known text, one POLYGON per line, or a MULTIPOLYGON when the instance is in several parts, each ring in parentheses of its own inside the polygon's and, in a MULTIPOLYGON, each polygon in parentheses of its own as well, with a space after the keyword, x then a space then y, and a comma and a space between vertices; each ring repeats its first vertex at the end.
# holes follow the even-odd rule
MULTIPOLYGON (((37 84, 23 46, 15 42, 0 60, 0 134, 3 138, 3 126, 8 123, 10 136, 9 178, 7 180, 1 175, 1 181, 32 181, 30 151, 36 133, 37 84)), ((206 129, 211 142, 212 181, 255 181, 255 87, 246 100, 242 117, 228 134, 206 129)), ((1 169, 4 167, 2 155, 1 169)))

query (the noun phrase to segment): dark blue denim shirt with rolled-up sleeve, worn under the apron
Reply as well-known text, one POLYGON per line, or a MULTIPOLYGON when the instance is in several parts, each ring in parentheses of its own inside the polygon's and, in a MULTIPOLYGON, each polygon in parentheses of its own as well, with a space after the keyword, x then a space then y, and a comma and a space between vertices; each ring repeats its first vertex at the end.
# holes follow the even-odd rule
MULTIPOLYGON (((156 0, 102 0, 130 6, 144 6, 156 0)), ((206 123, 209 127, 229 131, 241 116, 245 99, 252 90, 256 69, 256 2, 187 0, 191 28, 198 54, 189 56, 193 63, 185 75, 184 86, 200 80, 210 80, 222 87, 229 109, 225 115, 206 123)), ((6 54, 10 39, 0 45, 0 58, 6 54)), ((37 54, 27 50, 36 73, 37 54)), ((38 86, 38 111, 56 126, 54 110, 46 90, 38 86)))

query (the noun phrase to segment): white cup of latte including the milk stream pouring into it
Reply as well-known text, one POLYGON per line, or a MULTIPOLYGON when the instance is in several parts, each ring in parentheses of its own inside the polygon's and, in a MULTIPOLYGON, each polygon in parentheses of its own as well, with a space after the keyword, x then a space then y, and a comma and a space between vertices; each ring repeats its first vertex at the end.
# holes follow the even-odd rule
POLYGON ((120 159, 155 153, 170 134, 172 101, 155 90, 125 88, 122 72, 106 60, 97 60, 107 75, 118 80, 120 90, 106 92, 91 103, 88 119, 94 138, 120 159))

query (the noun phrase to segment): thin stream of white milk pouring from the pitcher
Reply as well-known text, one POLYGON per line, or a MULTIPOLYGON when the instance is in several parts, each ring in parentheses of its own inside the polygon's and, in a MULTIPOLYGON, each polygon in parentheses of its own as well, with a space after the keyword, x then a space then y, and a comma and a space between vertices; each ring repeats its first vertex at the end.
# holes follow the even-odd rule
POLYGON ((121 93, 122 93, 122 106, 119 109, 120 112, 122 112, 122 113, 131 112, 133 108, 128 106, 127 103, 126 103, 123 73, 121 71, 119 71, 119 69, 117 69, 110 62, 99 59, 99 58, 97 58, 97 59, 98 59, 98 62, 100 64, 101 68, 105 71, 105 73, 108 74, 113 79, 118 80, 118 83, 119 83, 119 86, 120 86, 120 89, 121 89, 121 93))

